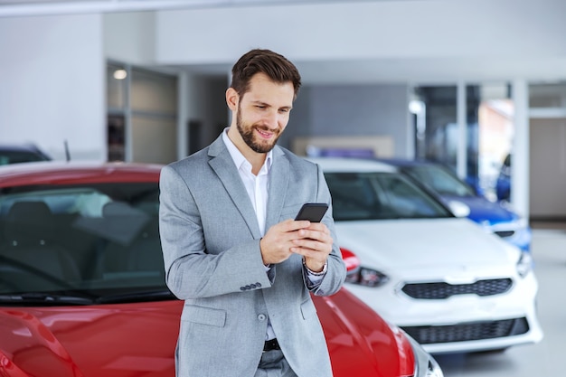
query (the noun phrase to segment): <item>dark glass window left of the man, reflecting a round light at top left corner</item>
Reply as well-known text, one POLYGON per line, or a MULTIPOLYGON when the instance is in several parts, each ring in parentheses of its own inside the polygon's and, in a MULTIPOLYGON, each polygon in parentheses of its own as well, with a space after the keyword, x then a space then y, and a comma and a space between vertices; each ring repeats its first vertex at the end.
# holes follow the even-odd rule
POLYGON ((177 159, 177 79, 109 62, 108 161, 177 159))

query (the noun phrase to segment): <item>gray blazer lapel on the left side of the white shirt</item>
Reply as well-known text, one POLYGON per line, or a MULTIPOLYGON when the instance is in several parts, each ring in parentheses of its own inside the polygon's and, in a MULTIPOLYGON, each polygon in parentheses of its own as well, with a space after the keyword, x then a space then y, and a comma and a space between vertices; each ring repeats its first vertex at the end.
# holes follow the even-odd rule
POLYGON ((230 153, 222 141, 222 135, 211 144, 208 155, 212 157, 209 165, 222 181, 226 191, 231 196, 232 202, 238 208, 248 228, 250 228, 253 238, 261 238, 258 218, 250 202, 250 196, 248 196, 236 165, 234 165, 234 161, 231 159, 230 153))

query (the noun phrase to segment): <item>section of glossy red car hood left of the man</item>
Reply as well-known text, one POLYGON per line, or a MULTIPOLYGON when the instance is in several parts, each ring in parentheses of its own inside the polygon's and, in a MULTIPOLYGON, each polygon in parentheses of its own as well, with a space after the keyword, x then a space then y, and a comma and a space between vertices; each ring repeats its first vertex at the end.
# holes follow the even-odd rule
POLYGON ((0 309, 0 375, 173 377, 182 305, 0 309))

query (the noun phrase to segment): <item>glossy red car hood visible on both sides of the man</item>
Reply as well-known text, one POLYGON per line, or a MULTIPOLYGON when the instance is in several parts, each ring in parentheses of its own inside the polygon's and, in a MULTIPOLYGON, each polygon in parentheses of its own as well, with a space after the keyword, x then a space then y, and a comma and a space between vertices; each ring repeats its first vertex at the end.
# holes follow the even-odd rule
MULTIPOLYGON (((344 289, 315 297, 335 377, 412 375, 404 335, 344 289), (343 309, 347 309, 347 313, 343 309)), ((2 377, 175 377, 182 301, 0 308, 2 377)))

